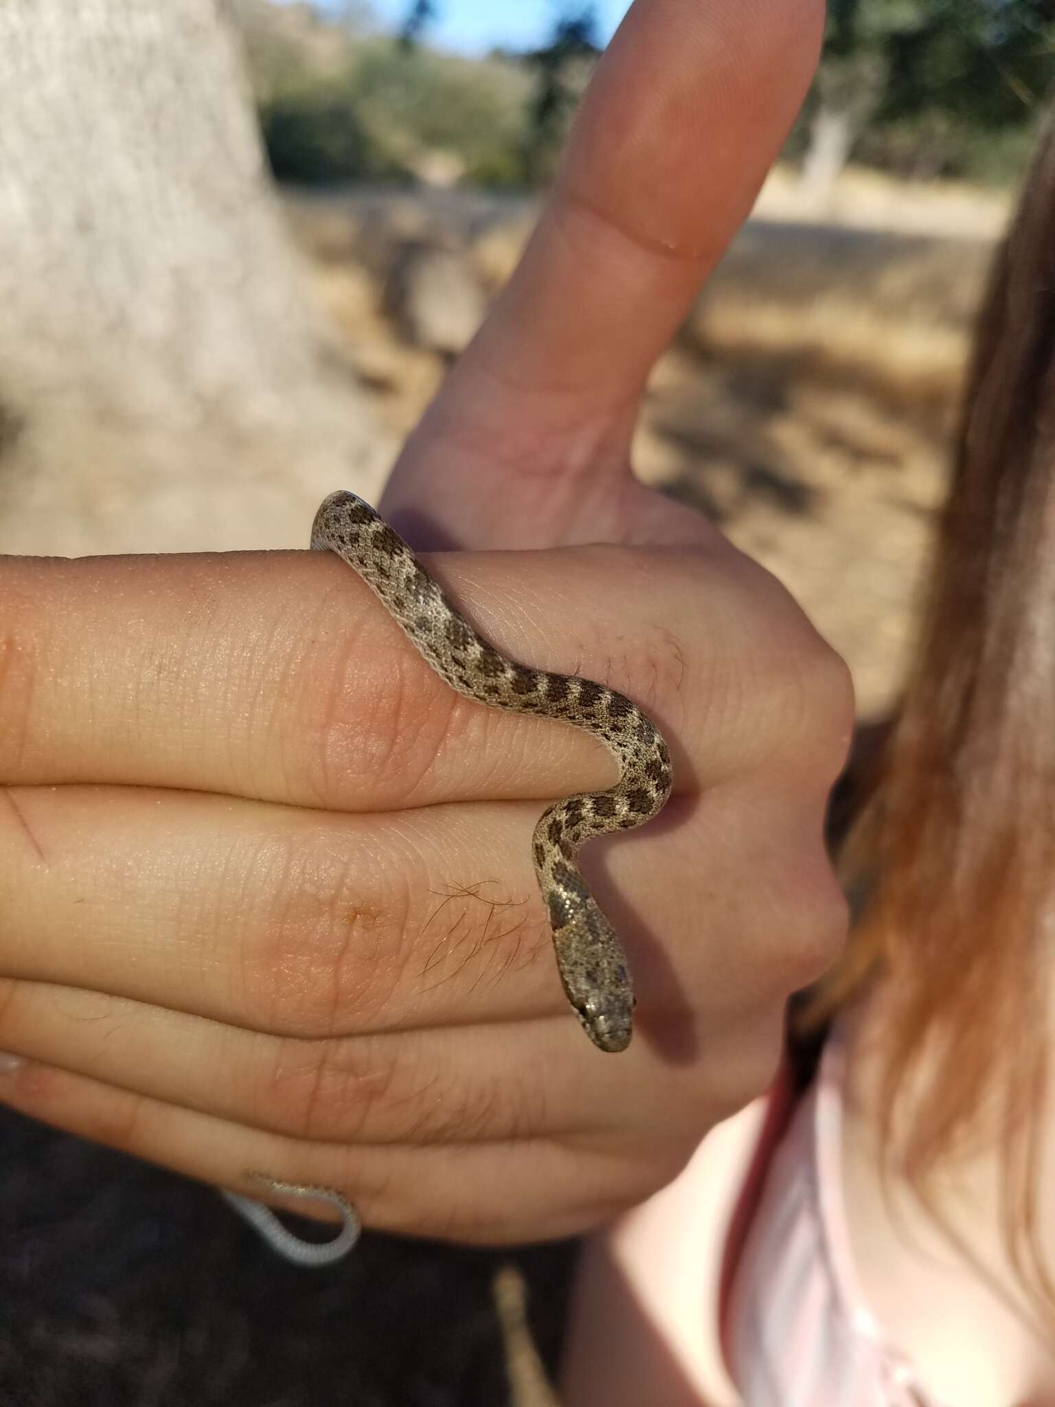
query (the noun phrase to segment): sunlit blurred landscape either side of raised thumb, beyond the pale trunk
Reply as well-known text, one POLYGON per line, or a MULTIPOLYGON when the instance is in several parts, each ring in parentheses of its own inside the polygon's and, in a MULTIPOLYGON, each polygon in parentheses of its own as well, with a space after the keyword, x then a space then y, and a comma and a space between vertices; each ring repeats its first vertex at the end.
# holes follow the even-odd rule
MULTIPOLYGON (((291 228, 398 433, 512 269, 625 8, 243 4, 291 228)), ((968 329, 1051 79, 1041 10, 833 4, 810 103, 651 386, 639 473, 785 581, 865 715, 897 685, 968 329)))

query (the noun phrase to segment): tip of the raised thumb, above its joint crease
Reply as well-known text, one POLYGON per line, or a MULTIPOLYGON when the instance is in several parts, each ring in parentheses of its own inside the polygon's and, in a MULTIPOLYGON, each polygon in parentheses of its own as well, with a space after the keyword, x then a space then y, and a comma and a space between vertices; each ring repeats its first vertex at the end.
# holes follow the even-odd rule
POLYGON ((558 184, 643 245, 716 257, 786 139, 823 31, 823 0, 637 0, 558 184))

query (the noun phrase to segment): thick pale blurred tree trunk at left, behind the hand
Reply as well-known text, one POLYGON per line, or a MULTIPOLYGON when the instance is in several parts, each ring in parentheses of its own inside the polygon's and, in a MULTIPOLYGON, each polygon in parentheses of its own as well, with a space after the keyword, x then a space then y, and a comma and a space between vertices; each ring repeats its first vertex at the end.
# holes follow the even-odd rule
POLYGON ((218 0, 0 0, 0 550, 304 546, 374 433, 218 0))

